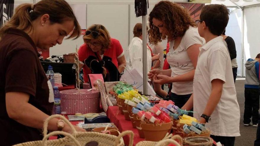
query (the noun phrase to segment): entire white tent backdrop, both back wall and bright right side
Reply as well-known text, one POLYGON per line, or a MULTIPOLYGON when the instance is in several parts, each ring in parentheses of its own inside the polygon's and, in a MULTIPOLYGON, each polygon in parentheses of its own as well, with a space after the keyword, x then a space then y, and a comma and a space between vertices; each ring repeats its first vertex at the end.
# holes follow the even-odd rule
MULTIPOLYGON (((15 6, 22 3, 37 3, 40 0, 15 0, 15 6)), ((111 36, 121 42, 123 48, 127 48, 133 37, 134 24, 142 22, 135 18, 133 0, 66 0, 74 9, 82 29, 90 24, 104 24, 111 36), (111 9, 116 11, 110 11, 111 9), (118 13, 120 12, 120 13, 118 13), (128 16, 128 17, 127 17, 128 16), (117 26, 117 27, 115 27, 117 26)), ((160 0, 149 0, 148 14, 153 6, 160 0)), ((187 0, 176 0, 176 2, 187 0)), ((254 58, 258 54, 260 46, 260 0, 212 0, 211 4, 224 4, 230 10, 230 21, 226 34, 233 37, 237 49, 238 76, 244 76, 244 63, 248 58, 254 58), (251 2, 246 2, 251 1, 251 2)), ((62 45, 51 48, 50 55, 63 55, 74 51, 76 45, 82 45, 83 40, 64 40, 62 45)), ((166 41, 163 43, 166 47, 166 41)))

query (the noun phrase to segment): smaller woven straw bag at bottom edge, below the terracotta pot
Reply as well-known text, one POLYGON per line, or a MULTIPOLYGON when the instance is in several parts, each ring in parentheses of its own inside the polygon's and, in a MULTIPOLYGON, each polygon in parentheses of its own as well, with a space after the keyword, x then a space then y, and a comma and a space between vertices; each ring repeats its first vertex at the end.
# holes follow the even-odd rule
POLYGON ((136 144, 136 146, 167 146, 169 143, 175 144, 176 146, 182 146, 182 138, 180 135, 174 135, 170 139, 160 140, 159 142, 152 141, 141 141, 136 144), (179 143, 175 140, 179 140, 179 143))

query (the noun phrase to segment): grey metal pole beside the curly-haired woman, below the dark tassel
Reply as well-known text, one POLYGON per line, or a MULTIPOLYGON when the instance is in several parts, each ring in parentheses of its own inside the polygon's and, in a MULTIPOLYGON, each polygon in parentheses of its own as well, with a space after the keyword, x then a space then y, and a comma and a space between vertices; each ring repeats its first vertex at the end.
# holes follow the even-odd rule
MULTIPOLYGON (((146 46, 146 15, 142 16, 142 39, 143 39, 143 94, 147 94, 147 46, 146 46)), ((151 66, 150 66, 151 67, 151 66)))

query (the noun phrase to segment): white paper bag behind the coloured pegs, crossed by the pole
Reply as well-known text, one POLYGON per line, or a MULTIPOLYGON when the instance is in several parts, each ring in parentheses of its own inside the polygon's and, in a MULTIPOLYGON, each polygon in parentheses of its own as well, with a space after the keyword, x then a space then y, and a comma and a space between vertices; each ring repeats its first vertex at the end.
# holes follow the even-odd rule
MULTIPOLYGON (((121 76, 121 81, 126 80, 126 82, 130 85, 135 86, 138 91, 143 92, 143 76, 140 74, 135 68, 131 71, 125 70, 124 74, 121 76)), ((152 86, 147 82, 147 94, 155 95, 155 91, 153 90, 152 86)))

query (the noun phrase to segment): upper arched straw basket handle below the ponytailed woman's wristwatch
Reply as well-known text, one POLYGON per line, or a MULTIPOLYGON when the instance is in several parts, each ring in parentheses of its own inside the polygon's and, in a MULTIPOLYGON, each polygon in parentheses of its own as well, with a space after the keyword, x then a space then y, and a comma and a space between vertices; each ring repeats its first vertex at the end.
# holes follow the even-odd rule
POLYGON ((64 120, 64 122, 66 124, 68 124, 69 127, 71 128, 72 134, 77 132, 76 129, 73 127, 73 125, 69 122, 69 120, 67 120, 64 116, 61 116, 59 114, 54 114, 54 115, 51 115, 50 117, 46 118, 44 123, 43 123, 43 136, 44 137, 47 135, 48 123, 53 118, 60 118, 60 119, 64 120))

